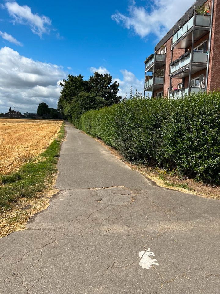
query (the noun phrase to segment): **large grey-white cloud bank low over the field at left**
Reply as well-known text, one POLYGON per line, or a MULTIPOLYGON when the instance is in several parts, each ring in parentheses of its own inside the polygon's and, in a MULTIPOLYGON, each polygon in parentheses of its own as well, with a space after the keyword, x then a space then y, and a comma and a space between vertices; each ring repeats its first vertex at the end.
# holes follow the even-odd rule
POLYGON ((40 102, 57 107, 66 73, 61 66, 34 61, 9 47, 0 49, 0 112, 36 112, 40 102))

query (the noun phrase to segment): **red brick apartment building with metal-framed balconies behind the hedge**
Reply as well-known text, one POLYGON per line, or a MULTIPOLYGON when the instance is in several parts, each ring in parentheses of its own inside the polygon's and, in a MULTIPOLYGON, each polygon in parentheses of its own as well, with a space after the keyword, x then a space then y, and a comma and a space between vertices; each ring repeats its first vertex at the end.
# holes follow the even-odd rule
POLYGON ((220 89, 220 0, 197 0, 146 58, 144 93, 179 97, 214 89, 220 89))

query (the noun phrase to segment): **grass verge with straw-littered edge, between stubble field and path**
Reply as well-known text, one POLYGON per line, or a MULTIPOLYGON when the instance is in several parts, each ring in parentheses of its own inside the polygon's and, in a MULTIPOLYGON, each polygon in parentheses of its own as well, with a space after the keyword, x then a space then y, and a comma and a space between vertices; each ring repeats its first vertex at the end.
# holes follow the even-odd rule
POLYGON ((57 138, 43 153, 24 164, 17 172, 0 175, 0 237, 24 228, 30 214, 33 215, 48 203, 45 195, 51 194, 49 190, 53 189, 64 136, 63 123, 57 138))

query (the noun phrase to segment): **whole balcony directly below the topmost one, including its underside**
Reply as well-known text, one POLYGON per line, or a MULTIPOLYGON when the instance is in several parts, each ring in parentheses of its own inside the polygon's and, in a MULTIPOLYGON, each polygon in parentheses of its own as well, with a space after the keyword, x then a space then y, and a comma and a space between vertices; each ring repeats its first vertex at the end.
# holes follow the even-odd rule
POLYGON ((205 52, 193 52, 193 61, 191 62, 192 52, 186 52, 180 58, 171 63, 171 78, 184 78, 189 76, 190 66, 192 66, 192 74, 203 70, 207 67, 207 58, 205 52))

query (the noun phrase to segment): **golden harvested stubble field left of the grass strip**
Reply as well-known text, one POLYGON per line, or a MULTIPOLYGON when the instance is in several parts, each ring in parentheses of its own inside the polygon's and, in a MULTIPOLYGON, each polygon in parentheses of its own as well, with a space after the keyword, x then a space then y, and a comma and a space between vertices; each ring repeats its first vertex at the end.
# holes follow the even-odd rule
POLYGON ((0 174, 9 174, 42 153, 63 121, 0 119, 0 174))

